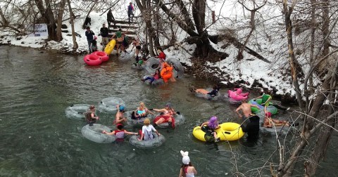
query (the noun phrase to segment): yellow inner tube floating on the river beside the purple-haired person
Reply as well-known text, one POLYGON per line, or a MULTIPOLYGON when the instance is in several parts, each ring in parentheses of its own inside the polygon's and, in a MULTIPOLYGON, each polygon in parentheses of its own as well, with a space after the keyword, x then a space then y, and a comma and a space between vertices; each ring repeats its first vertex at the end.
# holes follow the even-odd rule
MULTIPOLYGON (((220 124, 220 129, 216 129, 215 132, 220 140, 238 140, 244 136, 241 125, 234 122, 220 124)), ((192 134, 195 138, 206 141, 204 138, 206 132, 202 131, 201 126, 196 126, 192 134)))

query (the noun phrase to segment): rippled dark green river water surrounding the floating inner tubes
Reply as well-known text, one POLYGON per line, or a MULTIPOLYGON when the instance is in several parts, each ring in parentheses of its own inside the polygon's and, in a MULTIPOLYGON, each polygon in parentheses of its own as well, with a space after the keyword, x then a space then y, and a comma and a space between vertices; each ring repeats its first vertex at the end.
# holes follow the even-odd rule
MULTIPOLYGON (((180 150, 189 151, 198 176, 232 176, 235 171, 270 176, 270 162, 278 163, 273 136, 262 135, 256 143, 242 138, 217 145, 192 136, 194 126, 211 115, 220 122, 242 122, 233 111, 237 106, 189 93, 189 84, 211 86, 208 81, 186 75, 175 84, 152 87, 140 81, 144 71, 130 69, 131 61, 120 62, 114 56, 99 67, 88 67, 82 57, 1 46, 0 176, 178 176, 180 150), (175 131, 158 128, 166 142, 141 150, 127 140, 108 144, 87 140, 81 134, 84 122, 65 117, 69 105, 98 105, 110 96, 122 98, 127 110, 134 110, 140 101, 149 108, 170 102, 186 123, 175 131)), ((114 129, 114 114, 98 112, 98 116, 99 124, 114 129)), ((318 176, 336 175, 331 163, 338 151, 334 145, 329 148, 318 176)))

